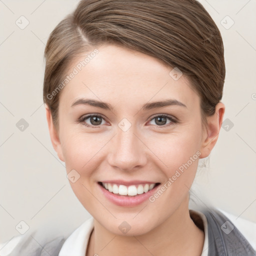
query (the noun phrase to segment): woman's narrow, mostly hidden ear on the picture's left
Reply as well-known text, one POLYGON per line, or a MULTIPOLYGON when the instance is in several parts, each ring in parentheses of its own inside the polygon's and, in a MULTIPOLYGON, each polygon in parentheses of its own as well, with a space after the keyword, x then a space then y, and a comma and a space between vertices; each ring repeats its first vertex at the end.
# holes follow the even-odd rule
POLYGON ((63 157, 63 153, 62 153, 62 147, 61 147, 61 143, 59 140, 58 131, 56 130, 56 127, 53 124, 52 115, 51 115, 48 105, 44 104, 44 106, 45 106, 45 110, 46 110, 46 118, 47 118, 47 122, 48 122, 48 129, 49 129, 51 144, 52 144, 54 150, 57 152, 58 158, 64 162, 64 157, 63 157))

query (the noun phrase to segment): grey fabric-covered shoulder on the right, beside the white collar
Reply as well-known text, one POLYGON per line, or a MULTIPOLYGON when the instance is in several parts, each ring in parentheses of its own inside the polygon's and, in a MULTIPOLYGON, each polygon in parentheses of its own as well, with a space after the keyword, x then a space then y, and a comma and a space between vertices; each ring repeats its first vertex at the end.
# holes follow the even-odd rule
POLYGON ((202 213, 208 223, 209 255, 256 255, 250 243, 223 213, 215 208, 205 208, 202 213))

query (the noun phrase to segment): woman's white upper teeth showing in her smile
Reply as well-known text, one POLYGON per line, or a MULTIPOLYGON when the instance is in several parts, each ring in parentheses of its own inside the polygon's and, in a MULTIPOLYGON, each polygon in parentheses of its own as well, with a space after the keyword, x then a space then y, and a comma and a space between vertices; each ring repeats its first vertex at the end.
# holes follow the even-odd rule
POLYGON ((102 182, 102 185, 109 192, 112 192, 114 194, 120 194, 120 195, 137 195, 137 194, 146 193, 148 190, 151 190, 155 186, 155 184, 156 183, 139 184, 136 187, 136 185, 125 186, 125 185, 117 185, 113 183, 102 182))

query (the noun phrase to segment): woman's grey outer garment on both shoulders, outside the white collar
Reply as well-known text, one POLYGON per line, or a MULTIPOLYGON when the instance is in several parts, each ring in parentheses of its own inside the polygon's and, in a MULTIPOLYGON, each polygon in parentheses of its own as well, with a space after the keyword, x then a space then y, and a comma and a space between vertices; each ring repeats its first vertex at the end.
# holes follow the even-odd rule
MULTIPOLYGON (((256 251, 224 214, 214 208, 205 208, 201 212, 208 222, 208 256, 256 256, 256 251)), ((58 256, 66 238, 59 236, 42 247, 29 236, 11 256, 58 256)))

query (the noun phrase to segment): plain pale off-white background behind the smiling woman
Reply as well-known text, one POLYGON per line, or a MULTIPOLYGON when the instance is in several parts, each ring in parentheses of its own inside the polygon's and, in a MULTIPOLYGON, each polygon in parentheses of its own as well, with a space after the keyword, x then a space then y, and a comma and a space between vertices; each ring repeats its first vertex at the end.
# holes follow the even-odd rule
MULTIPOLYGON (((191 193, 201 203, 256 222, 256 1, 200 2, 224 41, 222 102, 224 120, 233 127, 221 128, 191 193), (229 29, 223 27, 231 24, 227 15, 234 21, 229 29)), ((0 0, 0 242, 20 234, 15 226, 21 220, 29 230, 65 233, 90 216, 71 190, 64 163, 51 145, 42 101, 44 46, 77 3, 0 0), (24 29, 15 24, 21 15, 29 21, 24 29), (23 131, 16 127, 21 118, 29 124, 23 131)))

